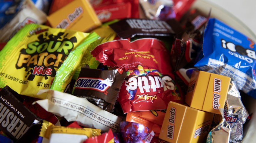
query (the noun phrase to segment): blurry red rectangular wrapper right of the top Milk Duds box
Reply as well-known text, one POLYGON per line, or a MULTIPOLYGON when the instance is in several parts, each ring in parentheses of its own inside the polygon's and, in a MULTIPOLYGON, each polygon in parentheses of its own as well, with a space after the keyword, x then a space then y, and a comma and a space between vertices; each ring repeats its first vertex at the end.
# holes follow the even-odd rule
POLYGON ((94 10, 101 22, 131 17, 131 3, 103 5, 94 10))

